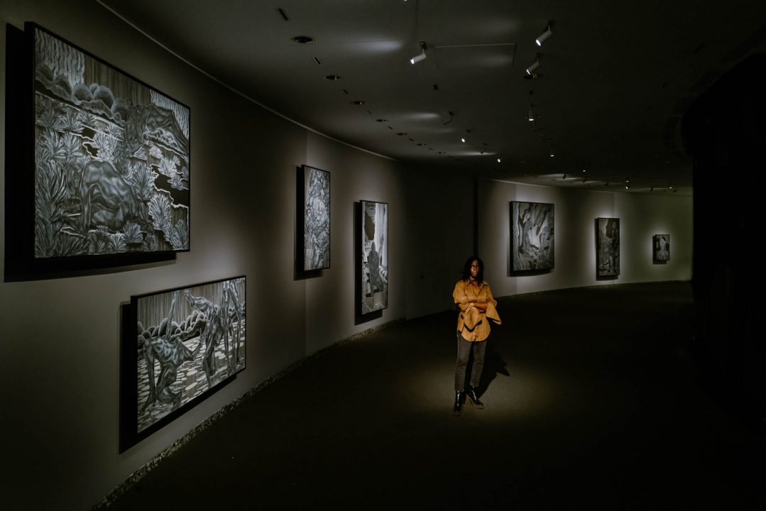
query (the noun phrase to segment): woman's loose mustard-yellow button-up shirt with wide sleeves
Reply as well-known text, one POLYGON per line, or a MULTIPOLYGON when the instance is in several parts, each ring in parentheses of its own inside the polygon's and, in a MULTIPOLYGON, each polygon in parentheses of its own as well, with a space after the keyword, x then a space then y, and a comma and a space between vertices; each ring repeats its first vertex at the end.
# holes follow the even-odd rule
POLYGON ((482 282, 474 286, 468 280, 458 280, 452 297, 460 306, 457 316, 457 331, 466 341, 483 341, 489 336, 489 319, 498 325, 497 301, 492 296, 489 284, 482 282), (479 310, 472 302, 486 302, 486 311, 479 310))

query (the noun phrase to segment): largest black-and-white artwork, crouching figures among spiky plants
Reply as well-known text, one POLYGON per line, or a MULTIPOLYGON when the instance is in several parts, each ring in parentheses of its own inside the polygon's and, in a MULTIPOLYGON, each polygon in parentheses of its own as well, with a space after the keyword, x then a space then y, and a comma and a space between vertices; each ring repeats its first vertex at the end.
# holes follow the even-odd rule
POLYGON ((39 27, 34 43, 34 257, 188 250, 188 108, 39 27))

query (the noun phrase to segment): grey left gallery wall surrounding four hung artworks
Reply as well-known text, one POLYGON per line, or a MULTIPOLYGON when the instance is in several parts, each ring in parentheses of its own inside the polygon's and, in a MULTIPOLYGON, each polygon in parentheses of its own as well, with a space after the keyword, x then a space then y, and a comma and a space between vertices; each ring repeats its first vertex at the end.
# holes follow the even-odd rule
MULTIPOLYGON (((0 264, 5 270, 5 24, 35 21, 191 108, 191 251, 176 260, 0 283, 3 509, 87 509, 196 424, 306 354, 404 316, 398 163, 296 126, 173 57, 96 2, 0 4, 0 264), (332 172, 332 267, 296 279, 296 168, 332 172), (388 310, 355 324, 352 204, 390 204, 388 310), (247 368, 119 453, 121 305, 130 296, 247 277, 247 368)), ((12 98, 10 99, 12 100, 12 98)), ((7 122, 6 122, 7 121, 7 122)))

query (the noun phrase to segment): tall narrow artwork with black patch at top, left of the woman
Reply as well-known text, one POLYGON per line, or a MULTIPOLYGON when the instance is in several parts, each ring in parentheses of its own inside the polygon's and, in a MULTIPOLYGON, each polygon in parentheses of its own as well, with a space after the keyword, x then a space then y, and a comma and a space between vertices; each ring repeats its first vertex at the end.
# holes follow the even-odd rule
POLYGON ((388 307, 388 204, 362 203, 362 314, 388 307))

